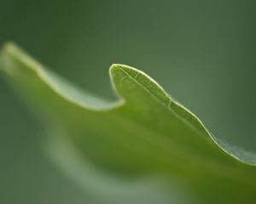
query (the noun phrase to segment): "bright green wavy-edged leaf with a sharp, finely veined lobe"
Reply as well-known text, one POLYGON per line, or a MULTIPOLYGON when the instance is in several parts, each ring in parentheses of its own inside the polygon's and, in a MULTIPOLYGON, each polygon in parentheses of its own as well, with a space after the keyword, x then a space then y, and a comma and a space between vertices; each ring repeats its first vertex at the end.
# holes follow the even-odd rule
POLYGON ((256 154, 213 136, 143 71, 112 65, 118 99, 111 102, 75 88, 11 43, 2 50, 0 69, 44 118, 58 141, 50 152, 72 175, 81 178, 78 163, 89 161, 116 180, 175 180, 198 202, 256 201, 256 154), (73 148, 61 145, 64 140, 73 148))

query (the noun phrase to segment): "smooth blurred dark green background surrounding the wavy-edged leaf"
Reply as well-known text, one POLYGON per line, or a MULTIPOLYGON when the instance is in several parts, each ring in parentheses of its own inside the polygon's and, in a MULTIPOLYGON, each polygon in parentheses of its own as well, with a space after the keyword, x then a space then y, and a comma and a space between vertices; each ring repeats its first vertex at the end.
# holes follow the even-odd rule
MULTIPOLYGON (((14 41, 80 87, 113 98, 108 67, 147 72, 212 133, 256 150, 255 1, 0 0, 14 41)), ((0 78, 0 202, 86 203, 41 148, 44 129, 0 78)))

